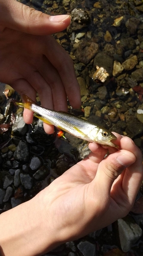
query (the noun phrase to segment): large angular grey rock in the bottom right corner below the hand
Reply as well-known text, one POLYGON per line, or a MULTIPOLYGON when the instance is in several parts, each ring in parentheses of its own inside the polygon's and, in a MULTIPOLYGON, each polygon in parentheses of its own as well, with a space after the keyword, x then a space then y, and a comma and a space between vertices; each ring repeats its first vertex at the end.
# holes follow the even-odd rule
POLYGON ((118 220, 118 230, 121 248, 124 252, 131 249, 131 246, 141 237, 142 230, 134 222, 134 220, 127 216, 118 220))

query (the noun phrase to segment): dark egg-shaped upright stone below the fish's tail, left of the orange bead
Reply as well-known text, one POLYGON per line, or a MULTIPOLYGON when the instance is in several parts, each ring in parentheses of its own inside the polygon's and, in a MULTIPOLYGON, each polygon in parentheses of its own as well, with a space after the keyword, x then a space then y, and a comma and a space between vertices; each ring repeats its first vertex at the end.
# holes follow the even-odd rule
POLYGON ((13 156, 17 161, 22 161, 22 162, 28 161, 30 152, 27 144, 24 141, 22 140, 19 141, 13 156))

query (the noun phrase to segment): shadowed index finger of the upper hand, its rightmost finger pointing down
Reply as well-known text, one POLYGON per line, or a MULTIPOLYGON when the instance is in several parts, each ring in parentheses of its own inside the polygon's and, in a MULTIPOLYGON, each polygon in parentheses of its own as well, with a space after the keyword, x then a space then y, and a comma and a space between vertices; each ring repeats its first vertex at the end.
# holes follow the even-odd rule
POLYGON ((75 76, 71 57, 52 36, 48 36, 48 41, 45 46, 46 48, 43 52, 52 66, 58 71, 62 83, 64 84, 70 104, 73 106, 73 108, 80 108, 80 88, 75 76), (51 45, 52 51, 49 51, 51 45))

